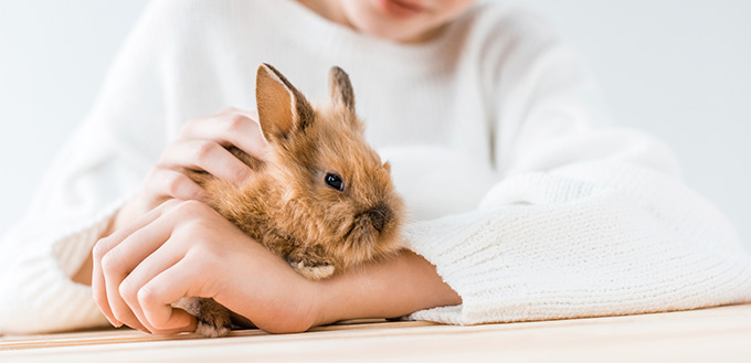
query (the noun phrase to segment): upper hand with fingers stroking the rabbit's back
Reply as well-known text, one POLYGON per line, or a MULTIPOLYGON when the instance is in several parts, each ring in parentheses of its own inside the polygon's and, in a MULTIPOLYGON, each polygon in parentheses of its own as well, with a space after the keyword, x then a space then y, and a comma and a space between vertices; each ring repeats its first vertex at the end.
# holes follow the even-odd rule
POLYGON ((203 190, 186 175, 187 170, 205 171, 233 183, 247 179, 252 170, 226 147, 236 147, 265 160, 266 141, 257 119, 255 113, 228 108, 188 121, 148 173, 141 191, 120 209, 108 232, 117 231, 169 199, 200 200, 203 190))

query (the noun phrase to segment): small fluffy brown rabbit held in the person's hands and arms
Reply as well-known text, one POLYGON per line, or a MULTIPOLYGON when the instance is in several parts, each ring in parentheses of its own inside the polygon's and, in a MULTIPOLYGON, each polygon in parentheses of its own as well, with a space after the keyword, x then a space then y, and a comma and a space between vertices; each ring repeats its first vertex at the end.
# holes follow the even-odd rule
MULTIPOLYGON (((261 65, 255 93, 269 161, 232 148, 255 171, 241 186, 190 174, 205 189, 207 204, 309 279, 396 250, 403 210, 389 163, 364 141, 349 76, 339 67, 329 72, 329 90, 330 103, 314 108, 278 71, 261 65)), ((201 335, 231 328, 230 311, 212 299, 174 306, 198 318, 201 335)))

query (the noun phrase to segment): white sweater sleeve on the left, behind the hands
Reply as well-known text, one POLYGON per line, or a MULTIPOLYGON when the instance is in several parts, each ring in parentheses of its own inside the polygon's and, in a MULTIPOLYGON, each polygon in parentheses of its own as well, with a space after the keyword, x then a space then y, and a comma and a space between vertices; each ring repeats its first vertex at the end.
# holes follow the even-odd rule
POLYGON ((0 333, 107 323, 91 287, 71 276, 163 149, 160 12, 147 9, 28 214, 0 242, 0 333))

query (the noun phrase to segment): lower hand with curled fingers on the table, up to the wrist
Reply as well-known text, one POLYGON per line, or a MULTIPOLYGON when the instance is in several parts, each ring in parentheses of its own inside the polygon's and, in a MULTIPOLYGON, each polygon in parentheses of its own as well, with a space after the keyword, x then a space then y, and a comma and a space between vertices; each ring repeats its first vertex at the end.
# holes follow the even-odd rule
POLYGON ((170 303, 213 298, 258 328, 304 331, 317 311, 313 281, 201 202, 169 201, 94 247, 94 298, 115 325, 157 334, 195 329, 170 303))

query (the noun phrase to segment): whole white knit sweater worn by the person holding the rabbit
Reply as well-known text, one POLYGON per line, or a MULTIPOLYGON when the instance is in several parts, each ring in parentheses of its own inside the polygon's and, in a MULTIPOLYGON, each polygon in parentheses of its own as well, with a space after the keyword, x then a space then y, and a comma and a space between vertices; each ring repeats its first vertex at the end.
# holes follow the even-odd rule
POLYGON ((477 7, 420 45, 370 39, 289 0, 155 1, 25 220, 0 244, 0 332, 106 325, 70 276, 181 125, 254 109, 262 62, 310 99, 346 70, 391 160, 408 246, 462 306, 457 324, 751 300, 751 257, 671 153, 604 128, 586 70, 547 25, 477 7))

